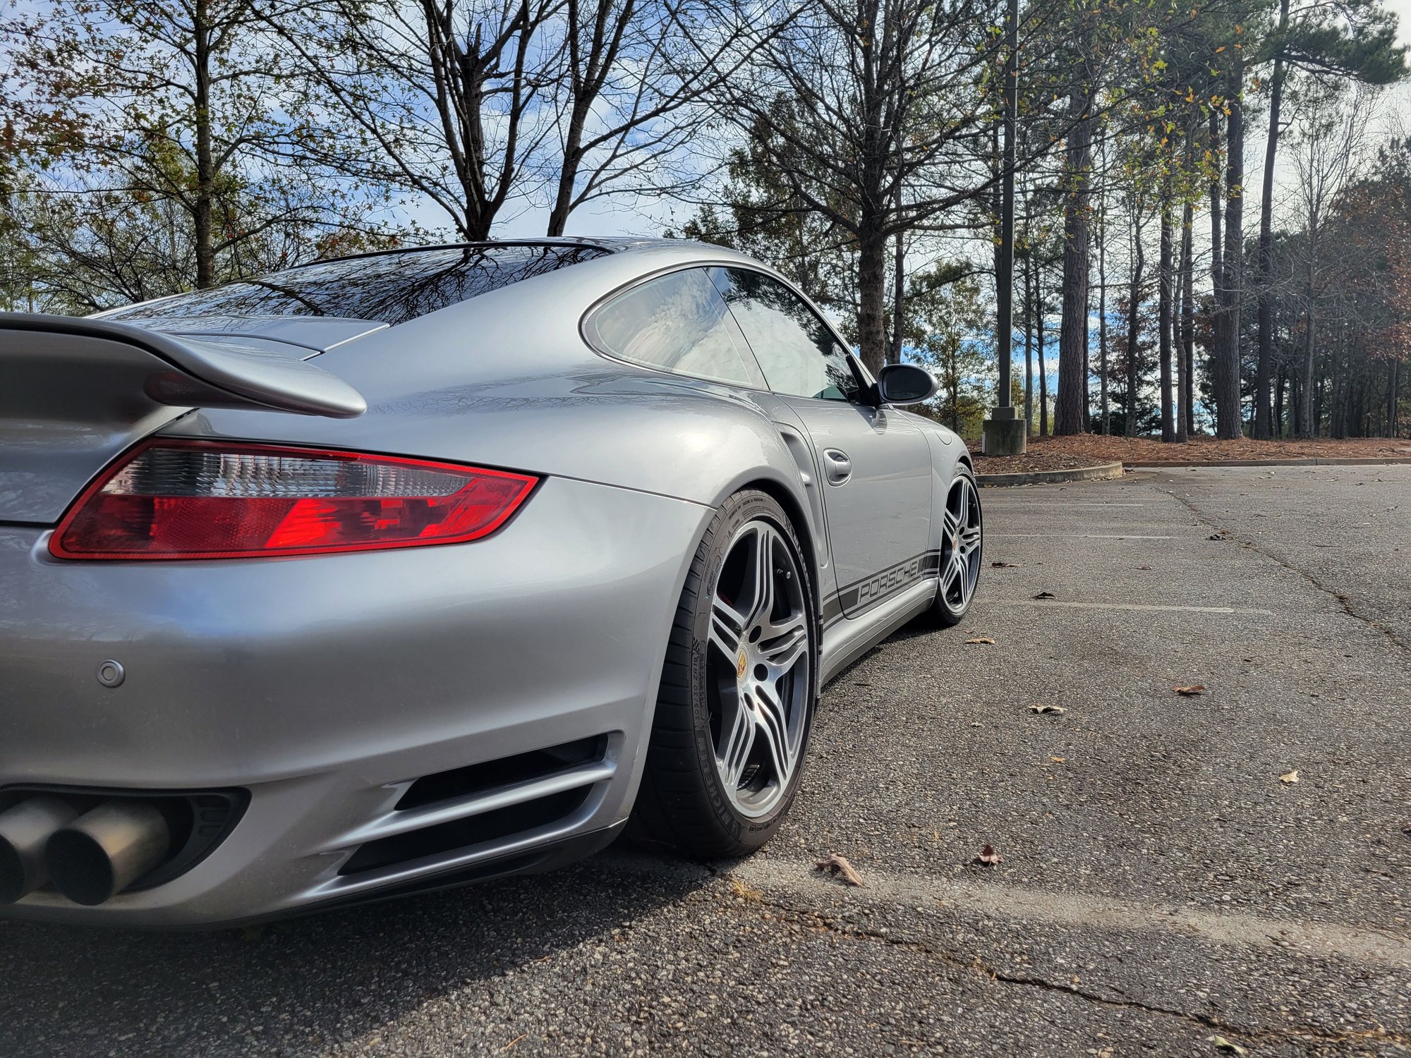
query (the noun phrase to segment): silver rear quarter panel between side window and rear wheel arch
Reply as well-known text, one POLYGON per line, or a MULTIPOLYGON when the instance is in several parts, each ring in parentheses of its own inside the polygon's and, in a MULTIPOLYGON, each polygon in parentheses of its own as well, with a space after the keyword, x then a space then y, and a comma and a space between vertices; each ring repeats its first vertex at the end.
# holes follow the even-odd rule
MULTIPOLYGON (((357 419, 203 409, 164 433, 440 458, 708 506, 763 484, 816 542, 816 568, 825 568, 801 468, 766 411, 777 403, 772 395, 608 360, 580 334, 583 315, 601 298, 697 257, 698 248, 614 254, 316 357, 367 398, 357 419)), ((694 549, 696 540, 680 546, 694 549)))

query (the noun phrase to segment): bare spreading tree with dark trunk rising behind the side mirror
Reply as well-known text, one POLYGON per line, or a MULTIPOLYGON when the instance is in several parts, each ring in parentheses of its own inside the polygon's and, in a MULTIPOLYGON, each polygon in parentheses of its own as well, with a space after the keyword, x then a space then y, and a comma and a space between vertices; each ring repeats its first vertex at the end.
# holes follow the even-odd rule
POLYGON ((888 240, 961 226, 950 212, 996 179, 982 92, 1002 54, 996 16, 986 0, 766 4, 741 38, 752 76, 717 93, 793 200, 854 241, 872 371, 888 351, 888 240))

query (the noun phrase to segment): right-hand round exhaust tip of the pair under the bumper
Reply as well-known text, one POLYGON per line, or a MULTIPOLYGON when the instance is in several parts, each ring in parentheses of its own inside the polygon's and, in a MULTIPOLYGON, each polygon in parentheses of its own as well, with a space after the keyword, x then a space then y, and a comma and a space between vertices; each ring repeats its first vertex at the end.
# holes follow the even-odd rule
POLYGON ((143 801, 107 801, 55 831, 45 846, 54 887, 93 907, 155 868, 171 848, 166 817, 143 801))

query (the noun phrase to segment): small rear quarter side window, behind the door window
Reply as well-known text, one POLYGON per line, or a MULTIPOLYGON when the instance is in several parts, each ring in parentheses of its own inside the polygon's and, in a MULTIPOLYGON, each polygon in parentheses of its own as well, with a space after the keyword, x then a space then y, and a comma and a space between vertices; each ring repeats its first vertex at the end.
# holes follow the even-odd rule
POLYGON ((598 309, 588 330, 604 351, 634 364, 763 387, 725 299, 698 268, 634 286, 598 309))

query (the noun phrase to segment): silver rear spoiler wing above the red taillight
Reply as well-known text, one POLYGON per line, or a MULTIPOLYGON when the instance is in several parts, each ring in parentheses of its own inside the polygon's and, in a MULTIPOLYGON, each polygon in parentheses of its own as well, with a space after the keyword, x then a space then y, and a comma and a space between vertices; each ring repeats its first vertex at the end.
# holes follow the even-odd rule
MULTIPOLYGON (((141 350, 131 381, 154 402, 182 408, 270 408, 299 415, 353 419, 367 411, 363 395, 323 368, 258 339, 174 337, 130 323, 0 313, 0 375, 16 371, 59 372, 92 361, 93 340, 141 350), (87 348, 80 348, 87 347, 87 348), (78 354, 76 357, 73 354, 78 354), (79 363, 69 363, 72 360, 79 363)), ((69 377, 82 387, 82 378, 69 377)))

